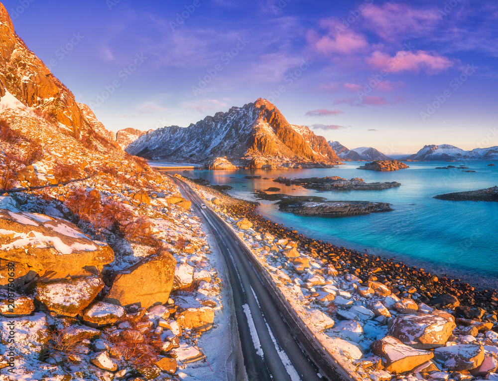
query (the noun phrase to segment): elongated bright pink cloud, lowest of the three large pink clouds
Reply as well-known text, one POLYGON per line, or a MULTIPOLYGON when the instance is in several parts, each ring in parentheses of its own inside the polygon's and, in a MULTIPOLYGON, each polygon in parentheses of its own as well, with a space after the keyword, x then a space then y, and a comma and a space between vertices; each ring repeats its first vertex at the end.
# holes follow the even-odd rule
POLYGON ((367 63, 374 68, 384 69, 388 72, 399 73, 402 71, 420 72, 425 70, 428 74, 434 74, 453 66, 453 62, 438 53, 430 53, 424 50, 398 51, 394 57, 389 54, 375 50, 367 63))

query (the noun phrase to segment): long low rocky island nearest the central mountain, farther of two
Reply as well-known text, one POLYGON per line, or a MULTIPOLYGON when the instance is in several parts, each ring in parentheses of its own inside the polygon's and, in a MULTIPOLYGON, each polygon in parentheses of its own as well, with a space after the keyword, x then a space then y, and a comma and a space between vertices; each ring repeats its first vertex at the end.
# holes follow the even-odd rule
POLYGON ((401 184, 396 182, 391 183, 366 183, 363 179, 355 178, 351 180, 343 179, 339 176, 327 176, 323 178, 312 177, 306 179, 287 179, 279 177, 273 180, 275 183, 290 185, 299 185, 306 189, 316 191, 380 191, 389 188, 399 187, 401 184))

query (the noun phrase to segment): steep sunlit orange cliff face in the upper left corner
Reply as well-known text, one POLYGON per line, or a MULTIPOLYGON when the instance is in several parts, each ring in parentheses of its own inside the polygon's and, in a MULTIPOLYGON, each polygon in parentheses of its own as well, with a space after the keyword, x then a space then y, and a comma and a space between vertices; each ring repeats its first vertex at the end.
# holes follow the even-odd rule
POLYGON ((79 137, 85 124, 73 94, 17 36, 0 3, 0 95, 8 91, 28 107, 47 114, 79 137))

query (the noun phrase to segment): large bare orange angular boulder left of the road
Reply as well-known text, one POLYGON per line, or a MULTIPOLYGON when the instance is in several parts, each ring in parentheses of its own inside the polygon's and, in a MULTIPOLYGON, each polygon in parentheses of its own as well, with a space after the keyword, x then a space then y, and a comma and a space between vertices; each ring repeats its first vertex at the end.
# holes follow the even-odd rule
POLYGON ((106 301, 121 306, 139 304, 143 308, 157 302, 164 304, 173 286, 175 269, 176 260, 166 251, 148 256, 114 274, 106 301))

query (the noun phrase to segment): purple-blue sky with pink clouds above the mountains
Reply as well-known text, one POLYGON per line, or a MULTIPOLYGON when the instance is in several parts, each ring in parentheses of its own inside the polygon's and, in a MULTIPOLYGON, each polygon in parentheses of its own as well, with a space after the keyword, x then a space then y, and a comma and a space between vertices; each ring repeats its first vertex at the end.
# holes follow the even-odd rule
POLYGON ((272 102, 348 148, 498 145, 491 0, 8 0, 17 34, 111 131, 272 102))

